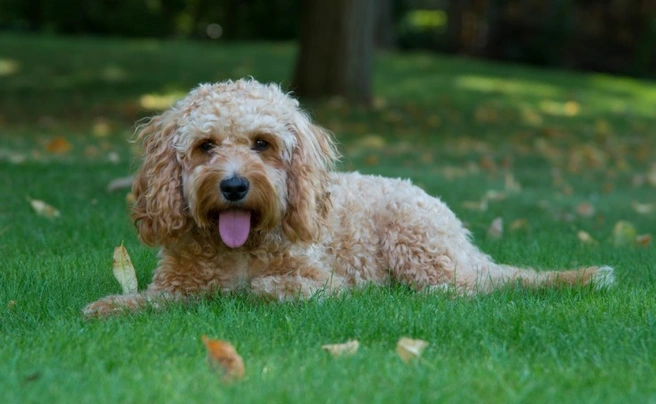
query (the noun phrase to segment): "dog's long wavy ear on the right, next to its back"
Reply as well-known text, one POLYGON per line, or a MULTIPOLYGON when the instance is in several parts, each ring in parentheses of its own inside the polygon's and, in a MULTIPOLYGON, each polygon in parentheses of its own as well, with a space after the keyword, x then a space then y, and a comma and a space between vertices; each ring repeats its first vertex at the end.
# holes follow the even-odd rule
POLYGON ((292 125, 295 145, 287 170, 287 209, 282 229, 292 242, 319 237, 330 200, 326 191, 329 172, 339 154, 327 130, 297 111, 292 125))

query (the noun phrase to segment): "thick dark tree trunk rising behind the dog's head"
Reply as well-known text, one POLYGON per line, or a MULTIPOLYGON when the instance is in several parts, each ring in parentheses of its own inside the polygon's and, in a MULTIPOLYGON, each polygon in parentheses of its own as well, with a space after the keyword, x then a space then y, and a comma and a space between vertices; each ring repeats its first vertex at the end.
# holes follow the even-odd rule
POLYGON ((376 0, 305 0, 292 82, 302 97, 371 102, 376 0))

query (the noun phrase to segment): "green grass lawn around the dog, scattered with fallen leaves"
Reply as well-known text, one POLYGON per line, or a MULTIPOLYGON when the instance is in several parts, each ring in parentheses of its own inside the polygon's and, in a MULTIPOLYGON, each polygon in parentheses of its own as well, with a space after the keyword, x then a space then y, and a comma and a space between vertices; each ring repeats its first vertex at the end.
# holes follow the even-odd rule
POLYGON ((456 298, 402 286, 305 303, 237 295, 104 321, 80 309, 120 288, 124 241, 144 287, 125 195, 134 120, 198 82, 288 83, 292 44, 0 36, 0 401, 656 402, 656 251, 616 245, 613 227, 656 236, 656 84, 428 54, 380 54, 376 108, 306 103, 333 130, 343 169, 412 178, 440 195, 498 261, 609 264, 618 285, 456 298), (150 95, 150 98, 144 96, 150 95), (171 98, 167 98, 171 97, 171 98), (145 100, 145 101, 144 101, 145 100), (63 137, 72 150, 50 153, 63 137), (521 184, 470 210, 486 191, 521 184), (61 211, 36 216, 26 197, 61 211), (576 208, 589 202, 595 212, 576 208), (486 236, 502 217, 503 237, 486 236), (510 224, 525 219, 526 226, 510 224), (577 238, 584 230, 597 240, 577 238), (231 341, 247 375, 219 383, 200 336, 231 341), (405 365, 402 336, 430 342, 405 365), (333 359, 322 344, 356 338, 333 359))

